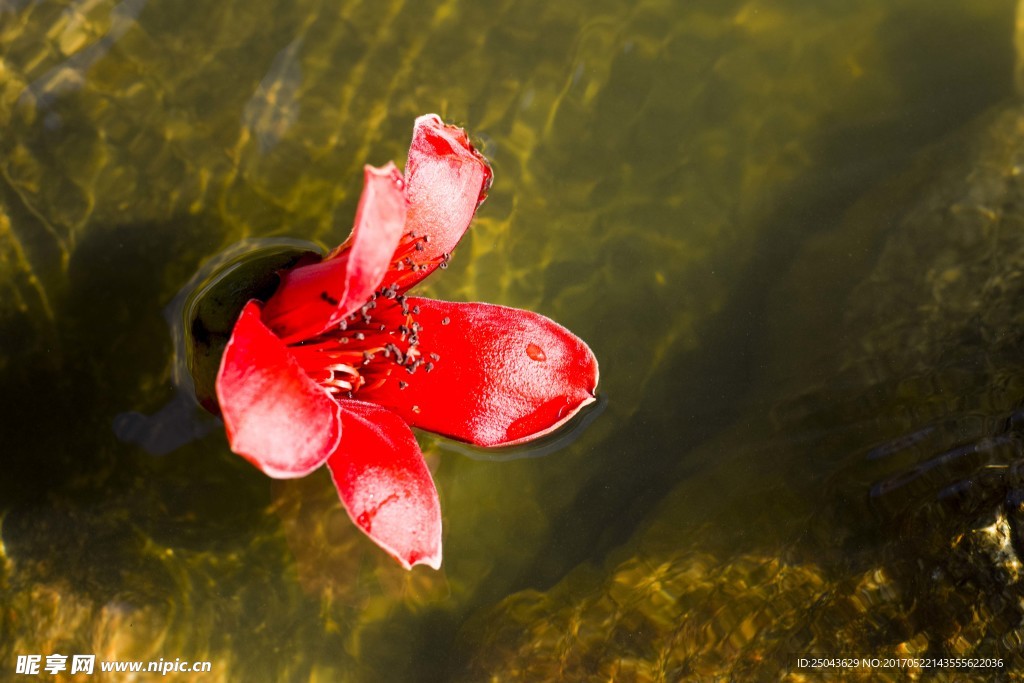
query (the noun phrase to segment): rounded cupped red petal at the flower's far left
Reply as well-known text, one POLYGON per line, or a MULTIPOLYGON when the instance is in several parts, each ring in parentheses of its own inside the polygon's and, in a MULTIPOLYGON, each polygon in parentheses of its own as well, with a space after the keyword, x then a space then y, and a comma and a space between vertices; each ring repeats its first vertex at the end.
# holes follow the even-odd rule
POLYGON ((231 451, 268 475, 300 477, 341 439, 340 409, 260 321, 242 309, 217 373, 217 400, 231 451))

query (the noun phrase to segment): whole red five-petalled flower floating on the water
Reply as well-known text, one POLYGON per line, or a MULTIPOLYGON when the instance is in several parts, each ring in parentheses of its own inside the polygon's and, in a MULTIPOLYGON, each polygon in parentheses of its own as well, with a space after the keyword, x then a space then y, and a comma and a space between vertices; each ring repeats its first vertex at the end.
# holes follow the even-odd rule
POLYGON ((556 323, 406 295, 445 266, 489 182, 464 131, 417 119, 404 178, 366 168, 351 236, 246 304, 217 374, 231 450, 279 478, 326 462, 352 520, 407 568, 441 561, 437 490, 410 426, 510 445, 594 400, 597 360, 556 323))

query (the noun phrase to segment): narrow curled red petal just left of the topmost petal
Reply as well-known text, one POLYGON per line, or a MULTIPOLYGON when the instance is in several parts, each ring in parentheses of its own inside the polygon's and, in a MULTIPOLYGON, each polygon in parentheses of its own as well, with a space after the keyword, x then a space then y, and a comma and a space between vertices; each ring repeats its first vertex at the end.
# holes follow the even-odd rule
POLYGON ((286 343, 340 323, 373 295, 406 225, 401 174, 394 164, 367 166, 352 233, 328 258, 282 274, 263 322, 286 343))

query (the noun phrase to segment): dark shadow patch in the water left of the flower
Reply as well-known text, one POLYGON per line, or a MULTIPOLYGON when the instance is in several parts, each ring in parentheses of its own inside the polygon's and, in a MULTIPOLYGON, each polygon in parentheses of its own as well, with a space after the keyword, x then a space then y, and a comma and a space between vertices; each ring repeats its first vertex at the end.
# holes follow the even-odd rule
MULTIPOLYGON (((0 371, 3 542, 38 577, 164 600, 173 580, 150 544, 242 548, 265 524, 268 485, 226 457, 219 434, 158 460, 111 429, 125 408, 175 395, 162 310, 220 239, 200 216, 90 227, 68 265, 53 338, 0 371)), ((190 435, 208 430, 193 424, 190 435)))

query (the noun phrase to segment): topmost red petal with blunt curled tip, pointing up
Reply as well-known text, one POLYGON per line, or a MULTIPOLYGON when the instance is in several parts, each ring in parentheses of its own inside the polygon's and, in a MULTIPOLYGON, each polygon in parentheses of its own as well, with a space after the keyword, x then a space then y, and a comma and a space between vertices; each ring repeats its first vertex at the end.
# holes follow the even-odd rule
POLYGON ((408 257, 418 267, 392 268, 382 285, 404 291, 433 272, 462 240, 490 178, 487 160, 462 128, 447 126, 433 114, 417 119, 406 164, 406 250, 395 253, 395 265, 408 257))

